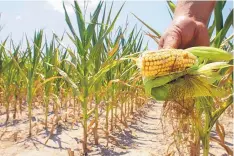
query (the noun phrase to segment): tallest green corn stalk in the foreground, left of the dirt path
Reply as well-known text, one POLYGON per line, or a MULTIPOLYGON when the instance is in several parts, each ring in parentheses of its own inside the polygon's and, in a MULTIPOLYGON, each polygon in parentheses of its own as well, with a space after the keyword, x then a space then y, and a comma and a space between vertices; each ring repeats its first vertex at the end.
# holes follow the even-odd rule
MULTIPOLYGON (((84 129, 84 139, 83 139, 83 151, 84 153, 87 153, 87 122, 88 122, 88 99, 90 96, 90 92, 93 90, 93 87, 96 86, 99 80, 103 78, 103 75, 110 70, 113 66, 116 65, 116 62, 113 61, 111 58, 107 59, 106 61, 103 62, 103 65, 99 68, 97 67, 95 71, 92 71, 90 69, 90 66, 95 65, 97 61, 94 61, 94 58, 98 60, 99 58, 99 53, 102 53, 104 51, 99 51, 100 47, 103 45, 104 40, 106 36, 111 32, 111 30, 114 27, 114 23, 116 22, 121 9, 118 11, 117 15, 115 16, 114 20, 112 23, 110 22, 110 14, 111 10, 109 11, 109 15, 106 21, 106 26, 101 26, 98 38, 95 37, 95 28, 97 27, 98 23, 98 17, 100 10, 103 6, 103 2, 100 2, 94 11, 93 16, 91 17, 91 23, 87 25, 85 24, 85 21, 83 19, 83 15, 81 12, 81 9, 78 5, 77 2, 74 2, 74 8, 75 8, 75 13, 76 13, 76 18, 77 18, 77 24, 79 28, 79 36, 76 34, 72 23, 70 21, 70 18, 67 14, 66 8, 64 6, 65 10, 65 18, 66 22, 68 24, 68 27, 72 33, 72 35, 69 35, 69 38, 73 43, 75 44, 77 48, 77 56, 73 55, 73 52, 69 52, 72 54, 73 60, 75 61, 76 68, 77 68, 77 74, 78 74, 78 81, 76 80, 75 82, 80 83, 82 88, 79 88, 77 92, 80 94, 79 98, 80 101, 82 102, 82 111, 83 111, 83 129, 84 129), (93 42, 91 42, 93 40, 93 42), (99 70, 97 70, 99 68, 99 70), (97 72, 98 71, 98 72, 97 72), (82 94, 82 95, 81 95, 82 94)), ((98 104, 98 103, 97 103, 98 104)), ((96 106, 96 113, 98 112, 97 106, 96 106)))

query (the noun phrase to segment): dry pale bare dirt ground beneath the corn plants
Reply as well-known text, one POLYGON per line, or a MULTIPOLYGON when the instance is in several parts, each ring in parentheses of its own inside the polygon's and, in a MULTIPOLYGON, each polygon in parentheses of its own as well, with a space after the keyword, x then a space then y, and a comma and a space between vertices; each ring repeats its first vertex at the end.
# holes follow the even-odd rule
MULTIPOLYGON (((169 144, 173 141, 170 136, 170 125, 162 127, 161 121, 162 104, 150 103, 144 106, 140 112, 133 115, 129 120, 128 128, 113 133, 114 139, 110 139, 107 145, 106 138, 100 132, 100 145, 89 144, 88 155, 106 156, 164 156, 169 144)), ((82 126, 75 123, 73 128, 69 123, 60 123, 53 135, 47 140, 50 129, 43 129, 43 125, 37 124, 43 113, 35 112, 34 135, 27 138, 28 120, 27 116, 21 120, 12 122, 6 128, 5 116, 0 116, 0 155, 1 156, 67 156, 68 149, 74 151, 75 155, 81 155, 82 151, 82 126)), ((220 120, 225 127, 225 141, 233 149, 233 119, 225 115, 220 120)), ((100 124, 102 125, 102 124, 100 124)), ((216 135, 212 132, 212 135, 216 135)), ((93 142, 93 137, 89 138, 93 142)), ((210 155, 225 156, 226 151, 216 143, 210 144, 210 155)))

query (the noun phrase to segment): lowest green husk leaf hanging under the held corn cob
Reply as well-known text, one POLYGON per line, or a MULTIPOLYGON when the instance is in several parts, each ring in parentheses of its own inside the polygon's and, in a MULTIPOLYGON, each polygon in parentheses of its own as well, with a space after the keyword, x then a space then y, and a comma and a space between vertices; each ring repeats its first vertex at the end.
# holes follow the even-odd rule
MULTIPOLYGON (((155 81, 153 81, 156 83, 155 81)), ((151 82, 152 85, 153 82, 151 82)), ((150 83, 148 82, 148 85, 150 83)), ((160 87, 146 86, 147 93, 159 101, 193 99, 195 97, 223 97, 227 93, 199 75, 184 75, 160 87)))

